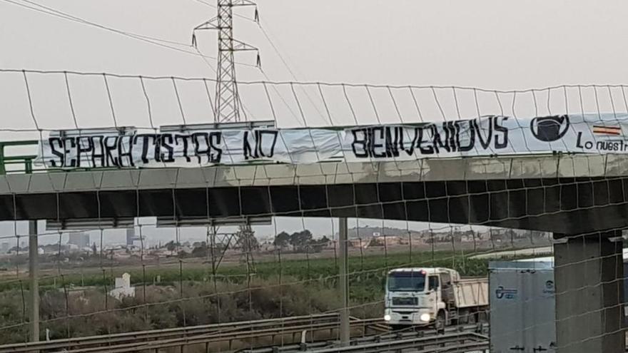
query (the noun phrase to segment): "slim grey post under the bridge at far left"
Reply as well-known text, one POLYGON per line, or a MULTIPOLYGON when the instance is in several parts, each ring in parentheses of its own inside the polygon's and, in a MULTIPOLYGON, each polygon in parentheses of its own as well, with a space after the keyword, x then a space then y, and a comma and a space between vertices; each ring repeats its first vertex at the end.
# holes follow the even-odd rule
POLYGON ((29 323, 31 342, 39 342, 39 264, 37 250, 39 250, 37 221, 29 220, 29 323))

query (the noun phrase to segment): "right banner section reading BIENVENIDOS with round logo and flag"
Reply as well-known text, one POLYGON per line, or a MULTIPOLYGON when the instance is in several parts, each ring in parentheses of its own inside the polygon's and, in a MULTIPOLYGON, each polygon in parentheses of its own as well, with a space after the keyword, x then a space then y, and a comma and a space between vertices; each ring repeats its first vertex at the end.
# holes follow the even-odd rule
POLYGON ((425 126, 348 128, 348 161, 415 160, 512 154, 628 153, 627 114, 489 116, 425 126))

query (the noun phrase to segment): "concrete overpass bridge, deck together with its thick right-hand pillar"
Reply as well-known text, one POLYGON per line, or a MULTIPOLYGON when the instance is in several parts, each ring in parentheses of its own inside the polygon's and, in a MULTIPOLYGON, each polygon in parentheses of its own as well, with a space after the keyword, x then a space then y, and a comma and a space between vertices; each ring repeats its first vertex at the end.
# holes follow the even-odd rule
MULTIPOLYGON (((558 352, 623 352, 628 157, 502 155, 38 173, 7 159, 0 220, 116 225, 269 216, 380 218, 554 232, 558 352), (586 305, 583 305, 586 303, 586 305), (563 348, 561 348, 563 347, 563 348)), ((36 168, 35 168, 36 169, 36 168)))

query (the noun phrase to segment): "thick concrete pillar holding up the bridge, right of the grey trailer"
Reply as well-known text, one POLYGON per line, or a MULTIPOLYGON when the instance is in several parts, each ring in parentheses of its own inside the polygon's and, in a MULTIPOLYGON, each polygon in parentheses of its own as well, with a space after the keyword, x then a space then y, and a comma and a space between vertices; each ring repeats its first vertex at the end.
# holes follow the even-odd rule
POLYGON ((554 234, 557 353, 625 352, 621 236, 554 234))

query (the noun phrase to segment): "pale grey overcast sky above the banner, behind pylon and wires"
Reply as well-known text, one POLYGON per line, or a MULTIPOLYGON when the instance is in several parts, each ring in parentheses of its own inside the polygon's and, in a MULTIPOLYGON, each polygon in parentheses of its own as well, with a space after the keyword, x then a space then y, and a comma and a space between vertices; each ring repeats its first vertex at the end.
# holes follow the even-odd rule
MULTIPOLYGON (((41 0, 0 0, 0 68, 216 76, 216 32, 197 34, 198 50, 208 56, 206 60, 190 46, 192 29, 216 16, 215 6, 211 7, 215 0, 37 1, 41 0), (62 16, 76 16, 76 21, 41 13, 52 10, 61 11, 62 16), (138 36, 143 36, 142 40, 138 36)), ((259 11, 261 26, 251 20, 252 7, 236 8, 240 16, 235 20, 235 36, 260 48, 265 73, 254 67, 254 53, 238 53, 237 61, 243 64, 237 68, 240 81, 455 85, 500 90, 628 82, 628 71, 624 69, 628 48, 622 43, 628 32, 626 1, 262 0, 259 11)), ((0 106, 11 116, 4 119, 4 127, 34 128, 24 78, 19 73, 0 74, 0 78, 0 106)), ((63 76, 31 74, 29 84, 39 127, 74 126, 63 76)), ((149 126, 139 81, 111 78, 109 85, 116 123, 149 126)), ((69 86, 81 128, 114 124, 102 77, 70 76, 69 86)), ((153 104, 151 123, 181 123, 172 83, 146 82, 146 86, 153 104)), ((213 84, 209 86, 213 91, 213 84)), ((211 110, 201 83, 179 82, 178 89, 186 123, 207 122, 211 110)), ((628 109, 623 92, 599 90, 600 104, 614 96, 618 110, 628 109)), ((338 89, 323 91, 336 125, 417 119, 407 90, 394 92, 402 115, 398 117, 388 91, 374 89, 373 98, 380 109, 380 116, 375 117, 364 89, 350 88, 348 96, 358 113, 355 121, 338 89), (360 111, 360 107, 365 109, 360 111)), ((296 92, 308 126, 328 124, 321 113, 318 91, 298 87, 296 92)), ((263 86, 240 85, 240 93, 253 119, 273 118, 263 86)), ((424 112, 422 119, 444 118, 431 91, 415 93, 424 112)), ((580 93, 567 93, 567 110, 579 112, 580 93)), ((447 118, 477 116, 472 92, 457 94, 458 111, 451 90, 437 91, 447 118)), ((532 94, 517 97, 515 112, 509 111, 514 106, 512 97, 501 96, 500 108, 495 95, 480 93, 480 113, 529 117, 565 110, 562 91, 549 94, 552 104, 545 104, 547 91, 535 94, 541 109, 552 106, 549 112, 532 108, 532 94)), ((594 92, 584 90, 582 94, 592 102, 594 92)), ((303 125, 288 86, 272 87, 270 96, 280 126, 303 125)), ((584 109, 597 111, 597 106, 585 102, 584 109)))

